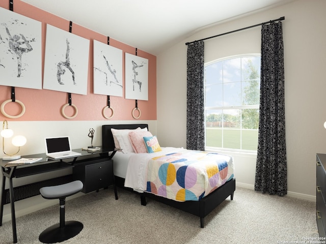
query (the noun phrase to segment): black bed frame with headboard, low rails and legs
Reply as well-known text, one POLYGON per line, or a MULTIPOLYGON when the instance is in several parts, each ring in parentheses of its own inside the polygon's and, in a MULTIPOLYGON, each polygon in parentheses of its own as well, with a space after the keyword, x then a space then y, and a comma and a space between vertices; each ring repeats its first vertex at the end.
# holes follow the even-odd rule
MULTIPOLYGON (((132 124, 132 125, 103 125, 102 126, 102 146, 103 149, 114 148, 114 140, 111 132, 111 128, 114 129, 136 129, 136 128, 148 128, 147 124, 132 124)), ((114 159, 113 159, 114 160, 114 159)), ((116 185, 124 188, 124 179, 116 177, 116 185)), ((130 190, 130 189, 129 189, 130 190)), ((204 228, 204 218, 220 205, 228 196, 231 196, 233 200, 233 194, 235 191, 235 178, 227 181, 223 186, 219 187, 200 201, 185 201, 178 202, 164 197, 156 196, 151 193, 141 193, 141 204, 146 206, 146 197, 165 203, 169 206, 178 208, 180 210, 189 212, 195 216, 200 217, 200 227, 204 228)))

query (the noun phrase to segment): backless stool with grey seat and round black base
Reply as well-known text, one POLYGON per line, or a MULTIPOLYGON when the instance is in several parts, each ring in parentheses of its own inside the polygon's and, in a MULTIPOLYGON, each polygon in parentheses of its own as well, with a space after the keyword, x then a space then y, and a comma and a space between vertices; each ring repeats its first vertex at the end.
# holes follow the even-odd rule
POLYGON ((45 199, 60 200, 60 223, 44 230, 39 240, 43 243, 56 243, 68 240, 77 235, 83 229, 83 224, 78 221, 65 221, 65 202, 66 197, 76 194, 83 189, 83 182, 75 180, 67 184, 42 187, 40 193, 45 199))

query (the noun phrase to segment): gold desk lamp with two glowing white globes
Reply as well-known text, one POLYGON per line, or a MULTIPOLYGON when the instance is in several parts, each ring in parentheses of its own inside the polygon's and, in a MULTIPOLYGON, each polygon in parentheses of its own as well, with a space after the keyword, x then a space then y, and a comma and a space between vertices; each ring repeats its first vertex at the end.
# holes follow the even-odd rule
POLYGON ((15 160, 15 159, 20 159, 20 155, 17 155, 19 153, 20 147, 26 144, 26 138, 24 136, 15 136, 12 138, 12 144, 14 146, 18 147, 18 151, 15 154, 7 154, 5 153, 5 138, 10 138, 14 134, 13 130, 8 128, 8 122, 5 119, 3 126, 2 126, 2 131, 1 131, 1 136, 2 138, 2 150, 5 155, 8 155, 8 157, 3 157, 2 160, 15 160), (6 126, 6 128, 5 128, 6 126))

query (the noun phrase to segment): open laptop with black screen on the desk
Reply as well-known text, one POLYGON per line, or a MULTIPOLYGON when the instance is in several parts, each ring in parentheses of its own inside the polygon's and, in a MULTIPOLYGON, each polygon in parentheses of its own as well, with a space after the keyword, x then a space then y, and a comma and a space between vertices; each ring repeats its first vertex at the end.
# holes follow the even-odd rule
POLYGON ((69 136, 45 138, 45 154, 52 159, 70 158, 81 155, 71 150, 69 136))

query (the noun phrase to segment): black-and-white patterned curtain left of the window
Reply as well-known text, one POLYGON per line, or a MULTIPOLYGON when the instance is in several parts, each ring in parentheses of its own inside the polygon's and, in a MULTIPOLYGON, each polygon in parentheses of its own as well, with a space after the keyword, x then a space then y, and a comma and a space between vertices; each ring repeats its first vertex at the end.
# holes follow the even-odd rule
POLYGON ((187 149, 205 150, 204 42, 187 49, 187 149))

